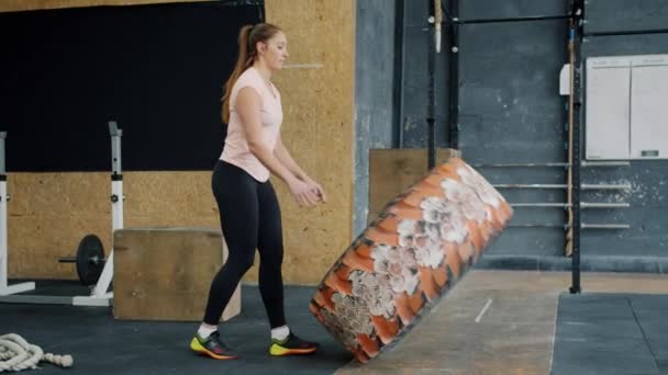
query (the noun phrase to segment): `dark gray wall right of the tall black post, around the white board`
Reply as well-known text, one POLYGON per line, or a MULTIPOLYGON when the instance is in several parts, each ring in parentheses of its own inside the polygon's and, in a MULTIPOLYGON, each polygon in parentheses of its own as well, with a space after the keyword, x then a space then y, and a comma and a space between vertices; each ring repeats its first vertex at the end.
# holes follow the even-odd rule
MULTIPOLYGON (((582 59, 595 56, 668 54, 668 0, 588 0, 582 59), (642 33, 642 34, 639 34, 642 33)), ((667 102, 668 103, 668 102, 667 102)), ((587 126, 584 124, 584 126, 587 126)), ((584 194, 582 200, 622 200, 631 208, 587 211, 583 221, 619 221, 631 229, 586 231, 582 253, 646 259, 668 257, 668 160, 632 161, 628 167, 588 168, 582 182, 621 181, 632 185, 622 194, 584 194)), ((664 270, 668 272, 668 270, 664 270)))

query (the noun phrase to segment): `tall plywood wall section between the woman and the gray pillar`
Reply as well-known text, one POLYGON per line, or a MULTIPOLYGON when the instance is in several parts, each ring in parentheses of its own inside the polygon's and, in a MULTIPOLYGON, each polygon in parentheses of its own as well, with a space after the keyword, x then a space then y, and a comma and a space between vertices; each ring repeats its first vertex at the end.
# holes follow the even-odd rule
POLYGON ((286 279, 319 283, 350 245, 353 225, 354 0, 266 0, 268 22, 288 37, 287 69, 274 78, 283 103, 283 141, 327 192, 300 209, 281 183, 286 279))

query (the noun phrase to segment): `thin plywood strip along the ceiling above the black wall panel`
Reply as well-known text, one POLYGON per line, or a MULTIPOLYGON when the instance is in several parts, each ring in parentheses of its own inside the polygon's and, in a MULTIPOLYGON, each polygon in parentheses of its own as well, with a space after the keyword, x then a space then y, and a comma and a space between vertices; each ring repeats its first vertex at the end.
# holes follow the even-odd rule
POLYGON ((0 0, 0 12, 97 5, 138 5, 164 2, 197 2, 205 0, 0 0))

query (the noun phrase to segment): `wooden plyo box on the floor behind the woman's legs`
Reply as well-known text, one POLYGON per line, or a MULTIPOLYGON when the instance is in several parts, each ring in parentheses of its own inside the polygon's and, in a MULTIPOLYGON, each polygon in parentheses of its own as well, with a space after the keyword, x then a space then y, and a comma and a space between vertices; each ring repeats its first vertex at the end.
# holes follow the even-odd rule
MULTIPOLYGON (((220 230, 120 229, 113 243, 115 319, 201 321, 211 281, 227 259, 220 230)), ((222 320, 240 312, 237 286, 222 320)))

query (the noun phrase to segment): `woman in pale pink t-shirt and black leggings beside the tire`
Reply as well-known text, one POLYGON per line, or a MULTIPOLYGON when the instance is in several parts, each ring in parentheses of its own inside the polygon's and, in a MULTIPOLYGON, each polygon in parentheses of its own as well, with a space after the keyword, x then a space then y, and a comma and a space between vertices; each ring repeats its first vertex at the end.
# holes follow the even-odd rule
POLYGON ((190 348, 216 360, 237 356, 220 339, 218 323, 257 249, 259 291, 271 327, 269 353, 313 353, 318 344, 294 336, 286 322, 281 217, 269 175, 278 175, 301 206, 325 202, 325 193, 280 139, 280 94, 270 78, 288 58, 286 35, 275 25, 260 23, 244 26, 238 42, 238 59, 223 96, 227 136, 211 183, 230 253, 211 283, 204 319, 190 348))

